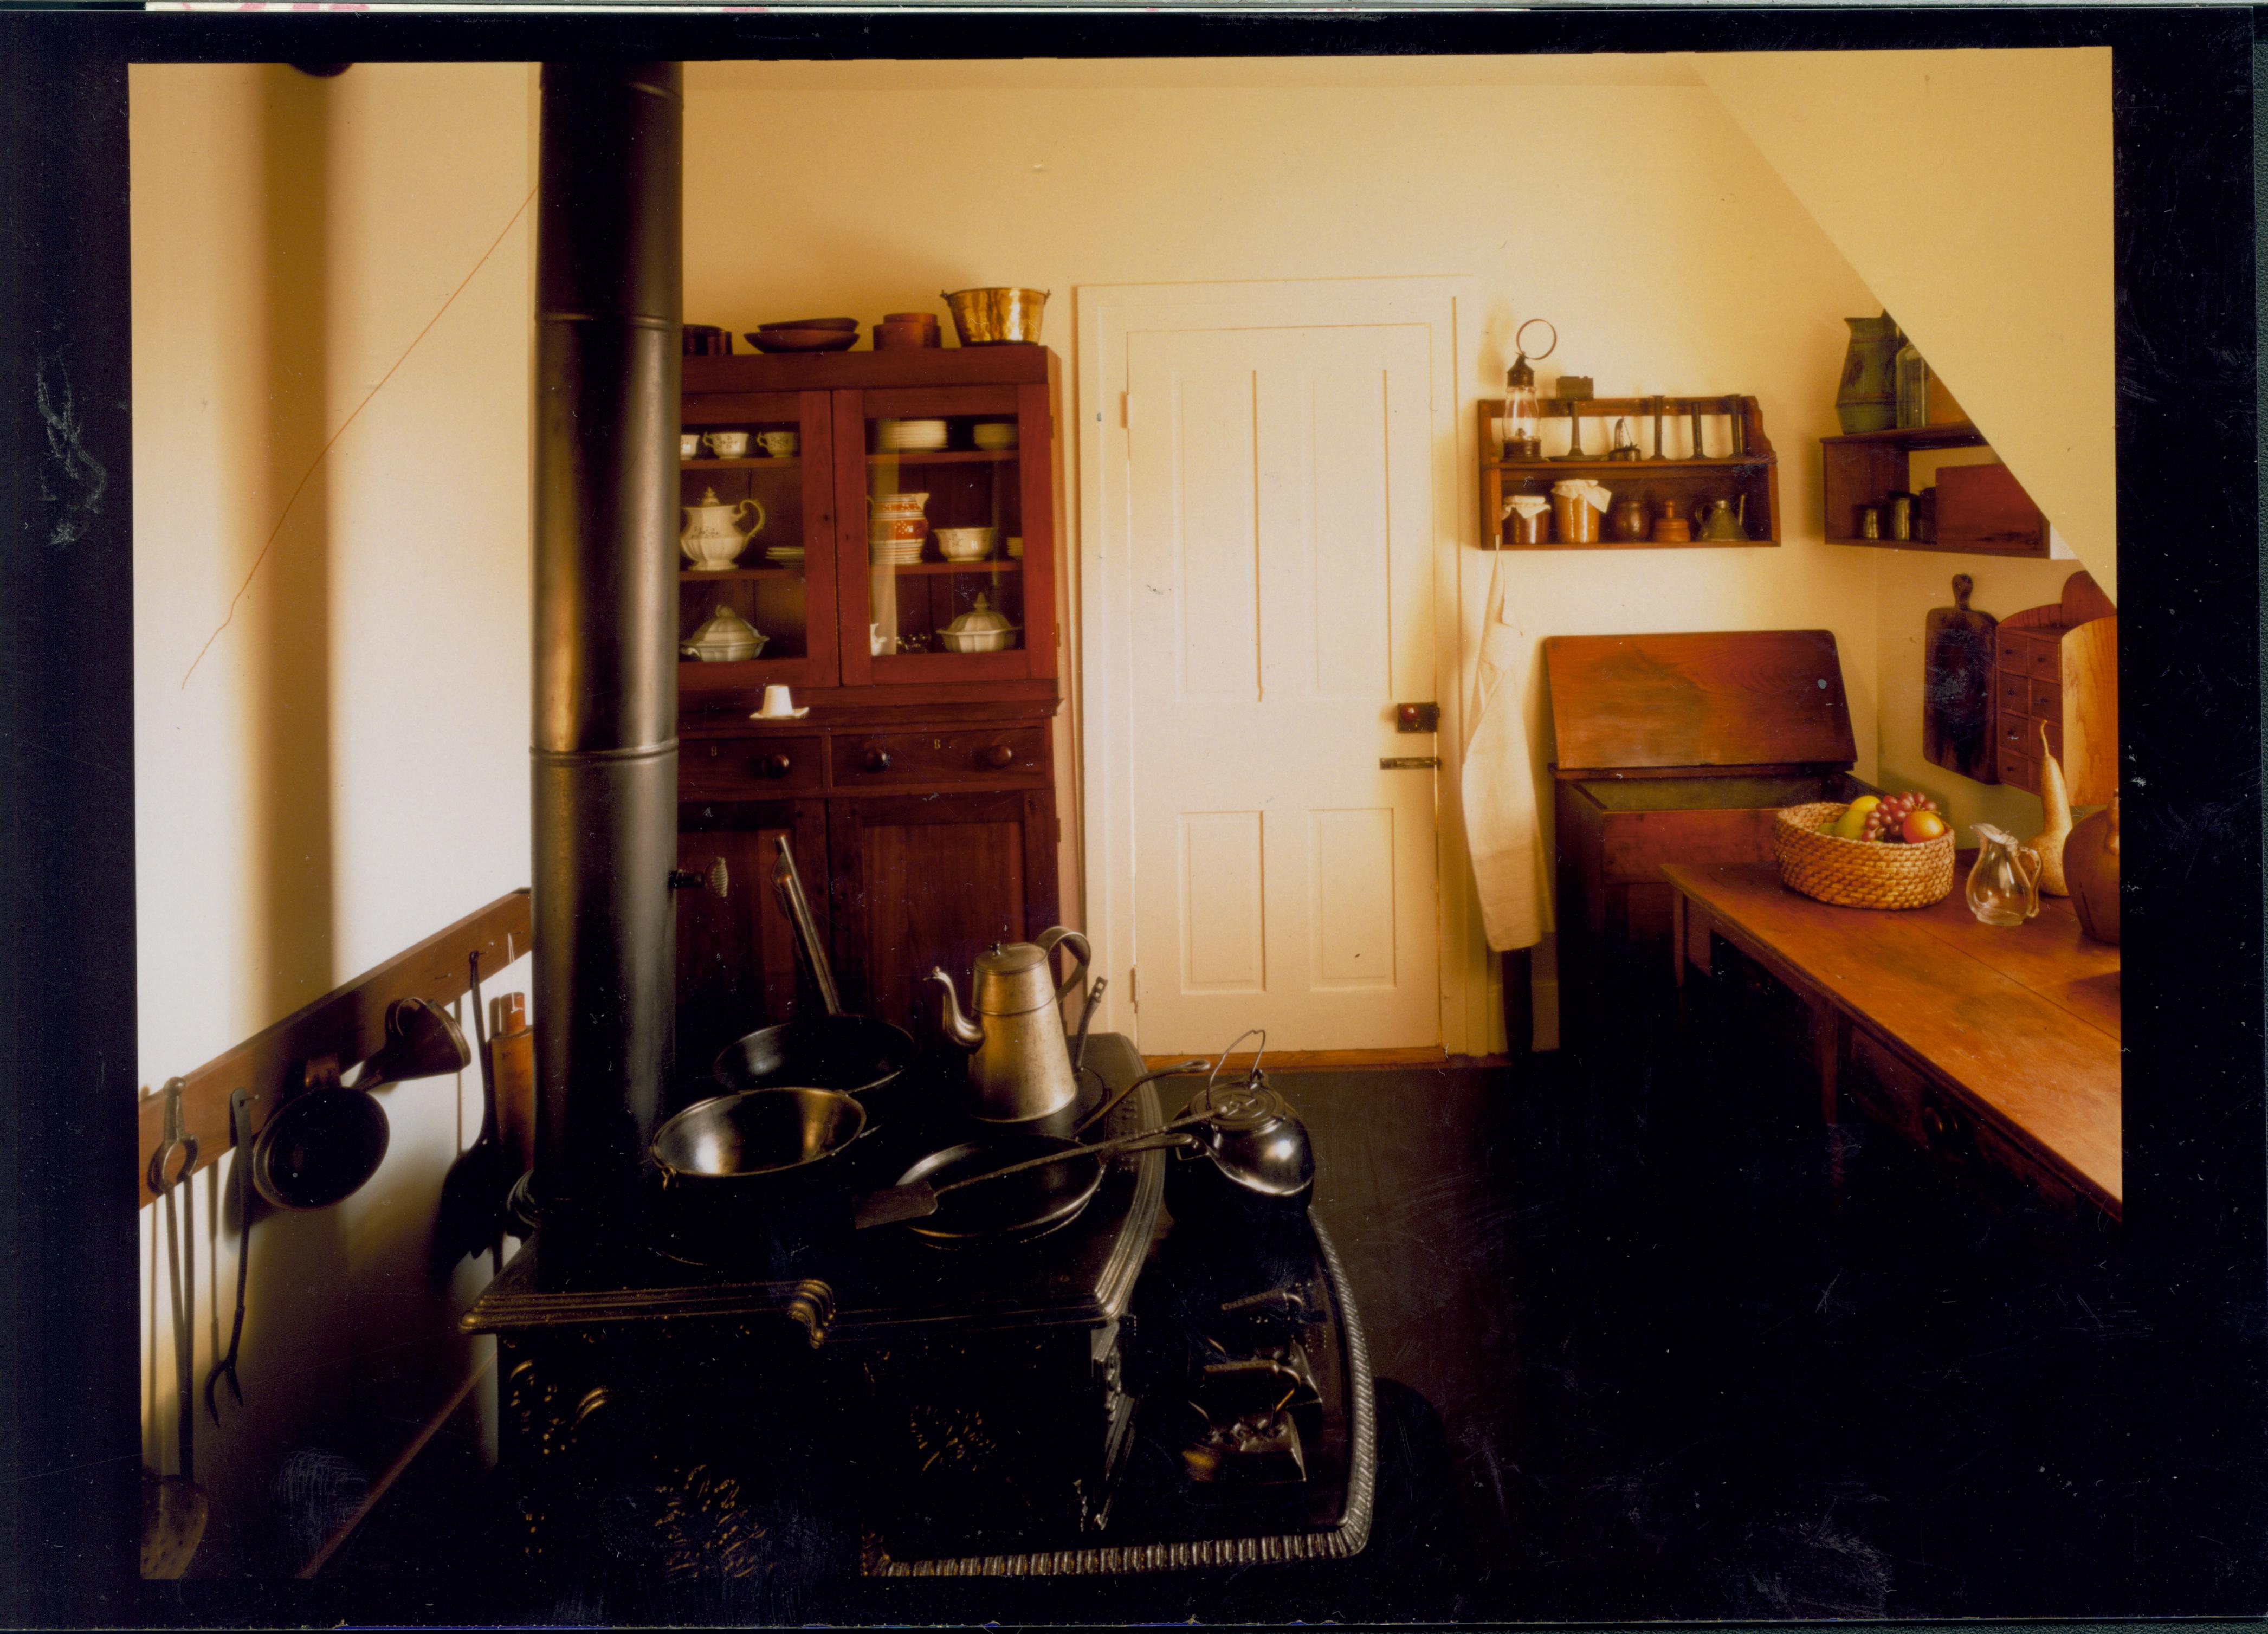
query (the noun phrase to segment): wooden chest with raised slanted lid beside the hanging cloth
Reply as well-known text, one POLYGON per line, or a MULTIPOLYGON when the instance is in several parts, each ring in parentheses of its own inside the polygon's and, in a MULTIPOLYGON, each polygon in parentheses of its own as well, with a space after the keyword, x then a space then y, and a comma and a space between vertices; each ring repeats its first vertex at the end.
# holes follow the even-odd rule
POLYGON ((1665 862, 1771 862, 1783 806, 1869 794, 1830 631, 1554 635, 1563 1033, 1672 978, 1665 862))

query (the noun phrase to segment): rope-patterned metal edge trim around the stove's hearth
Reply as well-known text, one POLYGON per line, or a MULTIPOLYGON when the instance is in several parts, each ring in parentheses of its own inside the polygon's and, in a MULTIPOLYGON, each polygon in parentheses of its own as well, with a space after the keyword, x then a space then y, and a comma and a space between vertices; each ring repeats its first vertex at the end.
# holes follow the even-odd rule
POLYGON ((962 1555, 955 1559, 900 1561, 869 1539, 869 1577, 1102 1577, 1118 1573, 1202 1570, 1209 1566, 1272 1566, 1352 1559, 1370 1543, 1370 1521, 1379 1484, 1377 1398, 1370 1389, 1370 1344, 1354 1309, 1354 1289, 1338 1264, 1338 1250, 1322 1219, 1309 1212, 1322 1269, 1347 1334, 1347 1391, 1352 1441, 1347 1457, 1347 1507, 1327 1532, 1277 1532, 1247 1539, 1195 1539, 1186 1543, 1111 1543, 1107 1548, 1039 1550, 1030 1555, 962 1555))

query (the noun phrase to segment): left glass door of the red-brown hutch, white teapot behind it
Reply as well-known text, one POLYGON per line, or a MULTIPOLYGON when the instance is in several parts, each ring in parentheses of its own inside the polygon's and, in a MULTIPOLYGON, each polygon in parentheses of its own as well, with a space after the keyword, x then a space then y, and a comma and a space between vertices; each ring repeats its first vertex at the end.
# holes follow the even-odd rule
POLYGON ((828 393, 714 393, 678 449, 678 688, 835 685, 828 393))

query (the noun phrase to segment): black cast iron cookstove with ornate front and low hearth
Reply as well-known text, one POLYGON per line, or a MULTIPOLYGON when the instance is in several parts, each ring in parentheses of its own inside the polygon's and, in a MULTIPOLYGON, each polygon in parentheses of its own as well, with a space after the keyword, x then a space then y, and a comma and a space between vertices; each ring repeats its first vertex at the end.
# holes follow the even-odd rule
MULTIPOLYGON (((1120 1035, 1089 1064, 1086 1105, 1141 1076, 1120 1035)), ((943 1110, 953 1085, 934 1073, 909 1098, 943 1110)), ((1159 1121, 1143 1085, 1100 1130, 1159 1121)), ((903 1117, 844 1185, 889 1185, 964 1135, 950 1112, 903 1117)), ((649 1214, 612 1285, 547 1289, 538 1232, 465 1316, 497 1334, 531 1568, 603 1589, 789 1564, 1032 1577, 1359 1552, 1370 1362, 1329 1237, 1311 1214, 1177 1228, 1168 1162, 1120 1155, 1070 1226, 1032 1241, 934 1246, 850 1232, 846 1214, 680 1232, 649 1214)))

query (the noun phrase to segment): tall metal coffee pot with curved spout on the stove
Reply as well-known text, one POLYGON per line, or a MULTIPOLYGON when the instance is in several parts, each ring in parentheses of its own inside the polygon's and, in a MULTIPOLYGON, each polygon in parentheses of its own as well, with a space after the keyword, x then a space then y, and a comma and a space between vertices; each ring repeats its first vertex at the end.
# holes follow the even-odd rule
POLYGON ((971 1008, 962 1014, 953 978, 932 969, 930 980, 943 989, 939 1021, 948 1039, 971 1051, 968 1089, 973 1114, 991 1123, 1023 1123, 1066 1112, 1080 1098, 1070 1071, 1070 1046, 1064 1042, 1064 1017, 1057 1003, 1086 983, 1093 951, 1077 930, 1055 926, 1039 942, 993 942, 978 953, 971 1008), (1077 967, 1061 983, 1048 955, 1066 944, 1077 967))

